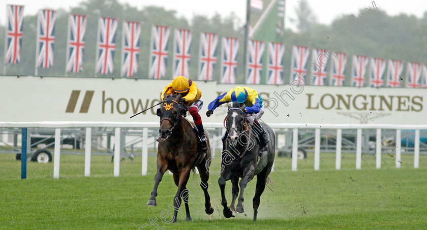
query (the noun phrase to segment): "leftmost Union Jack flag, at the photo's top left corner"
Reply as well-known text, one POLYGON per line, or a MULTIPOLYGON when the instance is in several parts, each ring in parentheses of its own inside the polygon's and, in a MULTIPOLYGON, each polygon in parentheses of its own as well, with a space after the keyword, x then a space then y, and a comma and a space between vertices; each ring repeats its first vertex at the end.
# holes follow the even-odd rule
POLYGON ((6 6, 6 52, 5 63, 18 63, 21 60, 22 19, 24 6, 6 6))

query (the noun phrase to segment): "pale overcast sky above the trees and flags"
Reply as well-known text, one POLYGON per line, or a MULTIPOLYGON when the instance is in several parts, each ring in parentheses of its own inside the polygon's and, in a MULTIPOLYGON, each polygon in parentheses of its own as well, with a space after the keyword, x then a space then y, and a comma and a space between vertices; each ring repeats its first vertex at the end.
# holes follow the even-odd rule
MULTIPOLYGON (((215 12, 228 16, 234 12, 243 23, 246 19, 246 0, 118 0, 120 3, 128 3, 142 9, 144 6, 155 5, 164 7, 166 10, 175 10, 178 16, 191 19, 194 14, 213 16, 215 12)), ((6 0, 0 5, 0 15, 6 14, 7 4, 24 5, 24 15, 34 15, 39 9, 64 8, 77 6, 81 1, 74 0, 6 0)), ((285 0, 285 27, 295 30, 295 25, 289 22, 289 18, 295 17, 294 8, 298 6, 298 0, 285 0)), ((357 17, 359 9, 373 8, 372 0, 308 0, 311 9, 322 24, 330 24, 334 18, 343 14, 354 14, 357 17)), ((415 15, 418 18, 427 11, 427 1, 422 0, 375 0, 378 9, 384 10, 388 15, 399 15, 401 13, 415 15)), ((266 7, 266 6, 264 6, 266 7)), ((0 18, 1 24, 5 23, 5 16, 0 18)))

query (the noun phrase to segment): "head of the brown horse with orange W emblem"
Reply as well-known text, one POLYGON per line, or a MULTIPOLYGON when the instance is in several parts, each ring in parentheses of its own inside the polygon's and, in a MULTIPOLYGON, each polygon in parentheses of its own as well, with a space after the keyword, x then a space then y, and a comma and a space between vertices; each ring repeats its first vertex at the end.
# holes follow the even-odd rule
POLYGON ((179 120, 179 116, 183 110, 182 105, 179 104, 181 94, 176 97, 169 95, 164 97, 161 108, 157 109, 157 116, 160 117, 159 133, 162 139, 167 139, 179 120))

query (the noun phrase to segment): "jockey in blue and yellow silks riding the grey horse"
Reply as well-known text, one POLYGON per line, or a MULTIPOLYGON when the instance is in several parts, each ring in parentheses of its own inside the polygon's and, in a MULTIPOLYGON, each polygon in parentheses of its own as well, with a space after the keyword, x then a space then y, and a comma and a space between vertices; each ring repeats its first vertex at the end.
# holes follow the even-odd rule
MULTIPOLYGON (((261 143, 261 148, 267 147, 268 143, 268 134, 265 132, 264 128, 259 124, 258 119, 264 114, 264 107, 262 106, 261 96, 255 89, 249 87, 237 86, 232 88, 230 91, 219 95, 212 101, 208 106, 208 111, 206 116, 210 116, 214 113, 214 110, 222 104, 229 102, 237 102, 239 104, 245 103, 246 107, 243 109, 245 112, 246 120, 250 125, 253 125, 254 130, 259 134, 261 143)), ((264 148, 262 151, 267 151, 264 148)))

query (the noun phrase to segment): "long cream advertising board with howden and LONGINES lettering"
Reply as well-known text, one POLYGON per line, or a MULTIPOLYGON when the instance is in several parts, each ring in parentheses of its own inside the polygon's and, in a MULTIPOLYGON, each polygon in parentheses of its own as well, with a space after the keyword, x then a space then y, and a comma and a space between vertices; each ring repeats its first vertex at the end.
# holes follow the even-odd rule
MULTIPOLYGON (((170 80, 0 77, 0 121, 158 122, 157 107, 170 80)), ((196 81, 203 122, 222 122, 226 105, 207 118, 207 105, 236 85, 196 81)), ((249 85, 266 108, 267 123, 427 124, 427 89, 249 85)))

